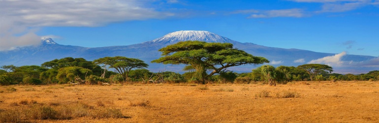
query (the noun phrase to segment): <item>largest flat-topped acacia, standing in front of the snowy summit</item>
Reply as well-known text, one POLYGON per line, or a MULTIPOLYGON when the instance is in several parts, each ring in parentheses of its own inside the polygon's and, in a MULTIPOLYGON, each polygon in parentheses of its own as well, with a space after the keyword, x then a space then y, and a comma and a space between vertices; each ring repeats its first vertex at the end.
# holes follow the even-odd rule
POLYGON ((225 71, 231 66, 261 64, 269 61, 245 51, 234 49, 231 43, 207 43, 182 41, 159 49, 161 58, 152 62, 163 64, 187 64, 196 70, 195 78, 205 83, 210 76, 225 71), (208 74, 206 71, 210 69, 208 74))

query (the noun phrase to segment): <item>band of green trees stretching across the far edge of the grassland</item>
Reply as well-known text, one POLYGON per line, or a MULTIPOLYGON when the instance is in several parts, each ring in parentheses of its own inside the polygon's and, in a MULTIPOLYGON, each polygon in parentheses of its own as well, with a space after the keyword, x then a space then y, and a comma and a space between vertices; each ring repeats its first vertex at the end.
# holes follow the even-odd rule
POLYGON ((153 73, 145 68, 142 60, 126 57, 104 57, 94 61, 83 58, 63 58, 38 65, 3 65, 0 68, 0 85, 67 84, 67 83, 252 83, 267 82, 285 84, 291 81, 336 81, 379 80, 379 71, 367 74, 331 73, 333 68, 325 64, 303 64, 294 66, 262 65, 250 73, 235 73, 228 67, 244 64, 263 64, 269 61, 245 51, 233 48, 230 43, 207 43, 182 41, 159 49, 162 57, 152 62, 163 64, 185 64, 184 74, 165 71, 153 73))

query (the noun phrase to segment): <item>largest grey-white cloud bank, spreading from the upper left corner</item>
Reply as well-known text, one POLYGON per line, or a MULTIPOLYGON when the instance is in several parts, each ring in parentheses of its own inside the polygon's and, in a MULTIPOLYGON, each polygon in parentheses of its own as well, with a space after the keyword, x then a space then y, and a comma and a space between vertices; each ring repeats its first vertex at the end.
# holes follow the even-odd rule
POLYGON ((112 22, 173 16, 172 13, 145 7, 147 2, 152 1, 0 0, 0 50, 39 43, 40 37, 34 32, 40 27, 95 27, 112 22))

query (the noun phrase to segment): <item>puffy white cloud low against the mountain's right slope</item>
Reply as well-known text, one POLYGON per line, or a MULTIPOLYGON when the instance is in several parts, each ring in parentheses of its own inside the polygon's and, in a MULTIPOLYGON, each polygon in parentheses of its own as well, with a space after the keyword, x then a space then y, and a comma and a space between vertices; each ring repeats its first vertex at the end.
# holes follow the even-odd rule
POLYGON ((343 56, 346 56, 346 52, 342 52, 334 56, 327 56, 327 57, 320 58, 317 60, 312 60, 311 62, 308 62, 308 63, 320 63, 320 64, 327 64, 329 66, 342 66, 344 65, 344 62, 341 61, 341 58, 343 56))

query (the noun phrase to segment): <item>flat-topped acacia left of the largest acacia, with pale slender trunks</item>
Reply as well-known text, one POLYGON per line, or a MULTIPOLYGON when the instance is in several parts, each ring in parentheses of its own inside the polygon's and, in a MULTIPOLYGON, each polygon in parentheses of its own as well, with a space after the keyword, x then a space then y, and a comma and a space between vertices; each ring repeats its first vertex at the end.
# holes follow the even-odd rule
POLYGON ((123 75, 123 79, 126 82, 127 76, 131 69, 133 68, 145 68, 149 65, 143 62, 139 59, 133 59, 133 58, 126 58, 126 57, 104 57, 97 60, 94 60, 95 64, 103 64, 104 66, 104 72, 102 76, 105 76, 105 70, 107 68, 107 65, 110 66, 110 68, 116 69, 118 73, 123 75), (124 78, 125 77, 125 78, 124 78))

